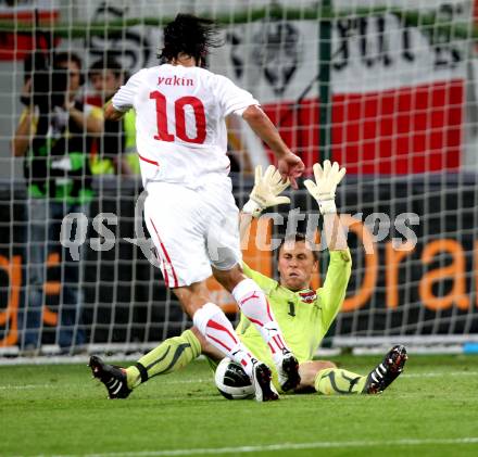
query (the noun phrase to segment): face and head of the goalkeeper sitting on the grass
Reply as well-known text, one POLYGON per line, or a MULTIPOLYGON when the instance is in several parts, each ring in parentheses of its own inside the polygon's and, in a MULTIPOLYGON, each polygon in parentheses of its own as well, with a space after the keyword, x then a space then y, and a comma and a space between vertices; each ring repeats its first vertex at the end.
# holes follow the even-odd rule
POLYGON ((280 285, 291 291, 307 289, 318 262, 305 241, 286 241, 280 247, 278 270, 280 285))

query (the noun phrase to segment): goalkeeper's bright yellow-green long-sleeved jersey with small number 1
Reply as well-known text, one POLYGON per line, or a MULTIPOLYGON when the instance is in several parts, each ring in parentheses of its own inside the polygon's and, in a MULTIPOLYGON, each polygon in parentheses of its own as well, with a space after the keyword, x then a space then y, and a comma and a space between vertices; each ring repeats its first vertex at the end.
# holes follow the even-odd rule
MULTIPOLYGON (((286 343, 299 363, 311 360, 345 297, 352 268, 350 251, 330 252, 324 287, 316 291, 292 292, 246 264, 242 264, 242 268, 244 275, 253 279, 267 295, 286 343)), ((237 333, 256 358, 274 367, 267 344, 242 314, 237 333)))

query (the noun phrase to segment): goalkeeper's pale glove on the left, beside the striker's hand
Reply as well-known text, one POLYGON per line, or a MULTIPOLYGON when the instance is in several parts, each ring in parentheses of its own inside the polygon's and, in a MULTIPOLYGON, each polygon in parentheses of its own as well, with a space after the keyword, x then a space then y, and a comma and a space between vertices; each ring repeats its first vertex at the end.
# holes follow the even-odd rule
POLYGON ((255 167, 254 187, 244 204, 242 213, 259 217, 263 210, 269 206, 290 203, 288 196, 278 196, 289 187, 289 179, 284 182, 279 172, 274 165, 269 165, 262 176, 262 166, 255 167))

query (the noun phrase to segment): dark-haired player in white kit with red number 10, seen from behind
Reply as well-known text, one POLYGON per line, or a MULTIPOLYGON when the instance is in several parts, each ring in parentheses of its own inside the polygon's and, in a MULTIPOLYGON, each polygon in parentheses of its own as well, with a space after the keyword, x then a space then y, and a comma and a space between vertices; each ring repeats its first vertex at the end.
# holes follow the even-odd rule
MULTIPOLYGON (((274 151, 282 178, 293 187, 304 165, 251 93, 201 67, 207 48, 218 46, 216 33, 210 21, 178 14, 164 29, 160 58, 167 63, 133 75, 106 106, 105 118, 120 119, 135 109, 137 150, 148 191, 144 219, 166 284, 206 341, 243 366, 256 399, 272 401, 278 394, 269 368, 242 345, 205 285, 213 274, 257 328, 277 366, 281 389, 298 385, 298 360, 285 345, 263 291, 240 267, 239 211, 228 178, 225 117, 242 116, 274 151)), ((260 207, 261 202, 254 202, 249 211, 260 207)), ((146 370, 139 365, 142 376, 146 370)), ((118 368, 96 356, 90 366, 111 398, 123 396, 126 379, 118 368)))

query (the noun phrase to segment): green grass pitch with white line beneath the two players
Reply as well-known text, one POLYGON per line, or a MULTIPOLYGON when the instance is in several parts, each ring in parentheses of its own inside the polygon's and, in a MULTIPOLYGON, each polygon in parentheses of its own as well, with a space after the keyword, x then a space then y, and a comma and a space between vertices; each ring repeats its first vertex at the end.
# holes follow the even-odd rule
POLYGON ((105 396, 85 365, 0 367, 0 456, 478 456, 476 356, 412 355, 378 396, 230 402, 204 360, 105 396))

